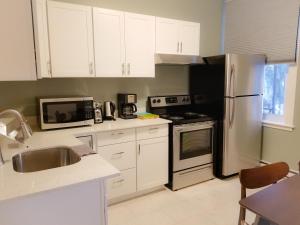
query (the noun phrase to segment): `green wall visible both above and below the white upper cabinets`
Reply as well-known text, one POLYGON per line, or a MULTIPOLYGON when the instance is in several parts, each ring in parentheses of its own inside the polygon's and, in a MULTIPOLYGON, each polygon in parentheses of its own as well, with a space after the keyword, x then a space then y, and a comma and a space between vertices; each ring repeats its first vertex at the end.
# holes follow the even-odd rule
MULTIPOLYGON (((201 55, 215 55, 221 52, 222 0, 63 1, 200 22, 201 55)), ((118 92, 136 93, 138 107, 142 111, 145 109, 146 99, 149 95, 186 94, 188 92, 188 69, 184 66, 156 66, 155 79, 70 78, 0 82, 0 109, 14 107, 21 109, 25 115, 32 116, 36 114, 36 96, 91 95, 99 101, 115 101, 118 92)))

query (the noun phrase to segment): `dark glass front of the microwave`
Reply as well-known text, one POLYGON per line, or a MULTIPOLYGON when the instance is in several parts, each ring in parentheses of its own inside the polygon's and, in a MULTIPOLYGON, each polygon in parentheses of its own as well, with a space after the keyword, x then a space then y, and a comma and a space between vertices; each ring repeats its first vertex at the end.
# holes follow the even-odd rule
POLYGON ((92 101, 43 103, 44 123, 73 123, 93 117, 92 101))

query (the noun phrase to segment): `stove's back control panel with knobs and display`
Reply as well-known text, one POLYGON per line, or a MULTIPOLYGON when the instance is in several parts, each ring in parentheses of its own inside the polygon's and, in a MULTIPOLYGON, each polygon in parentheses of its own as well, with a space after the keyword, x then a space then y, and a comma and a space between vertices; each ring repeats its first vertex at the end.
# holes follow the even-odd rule
POLYGON ((152 108, 190 105, 191 97, 189 95, 157 96, 149 97, 149 102, 152 108))

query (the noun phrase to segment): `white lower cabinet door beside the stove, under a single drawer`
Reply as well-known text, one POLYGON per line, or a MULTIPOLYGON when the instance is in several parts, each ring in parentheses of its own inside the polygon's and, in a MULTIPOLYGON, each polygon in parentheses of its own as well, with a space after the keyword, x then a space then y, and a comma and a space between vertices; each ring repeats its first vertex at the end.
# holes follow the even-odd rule
POLYGON ((168 137, 138 141, 138 191, 168 183, 168 137))

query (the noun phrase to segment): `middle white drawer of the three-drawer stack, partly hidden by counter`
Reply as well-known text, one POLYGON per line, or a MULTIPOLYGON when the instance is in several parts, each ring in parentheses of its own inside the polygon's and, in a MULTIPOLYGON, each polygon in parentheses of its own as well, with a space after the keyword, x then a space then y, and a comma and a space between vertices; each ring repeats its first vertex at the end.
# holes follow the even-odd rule
POLYGON ((136 167, 135 142, 98 147, 98 153, 119 170, 136 167))

